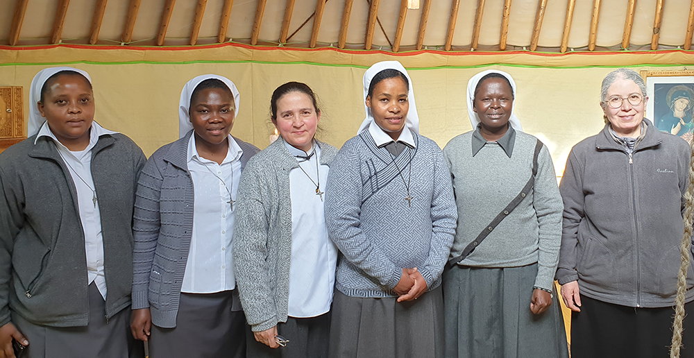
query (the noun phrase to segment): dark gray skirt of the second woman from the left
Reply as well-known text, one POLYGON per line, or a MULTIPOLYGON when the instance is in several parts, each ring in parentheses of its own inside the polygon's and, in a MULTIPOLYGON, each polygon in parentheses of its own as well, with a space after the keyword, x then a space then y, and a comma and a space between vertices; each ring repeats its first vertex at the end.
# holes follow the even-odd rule
POLYGON ((181 293, 176 327, 152 325, 151 358, 246 357, 246 316, 233 311, 234 291, 181 293))

